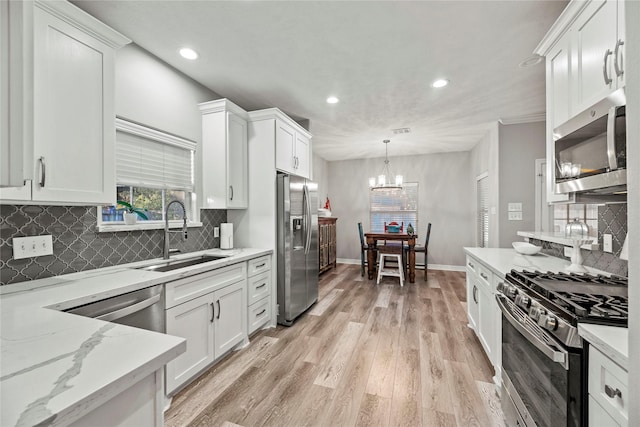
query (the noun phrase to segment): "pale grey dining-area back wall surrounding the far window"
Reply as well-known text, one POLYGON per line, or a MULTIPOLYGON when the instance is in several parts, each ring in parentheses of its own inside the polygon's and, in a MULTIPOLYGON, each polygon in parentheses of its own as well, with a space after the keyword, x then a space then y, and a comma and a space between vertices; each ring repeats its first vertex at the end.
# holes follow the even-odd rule
MULTIPOLYGON (((369 229, 369 177, 380 174, 383 161, 328 163, 329 198, 333 216, 338 217, 340 259, 360 259, 357 223, 369 229)), ((429 264, 464 266, 462 248, 474 245, 469 152, 391 157, 389 161, 392 172, 401 173, 405 182, 418 182, 418 235, 424 237, 427 223, 432 223, 429 264)))

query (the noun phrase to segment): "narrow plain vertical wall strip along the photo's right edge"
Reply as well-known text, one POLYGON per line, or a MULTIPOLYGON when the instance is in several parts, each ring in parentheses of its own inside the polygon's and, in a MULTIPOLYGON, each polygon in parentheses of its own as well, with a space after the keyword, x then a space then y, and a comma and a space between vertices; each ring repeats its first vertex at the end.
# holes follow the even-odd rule
MULTIPOLYGON (((640 402, 640 2, 625 1, 629 218, 629 399, 640 402), (633 361, 636 362, 633 362, 633 361)), ((640 405, 629 405, 629 425, 640 425, 640 405)))

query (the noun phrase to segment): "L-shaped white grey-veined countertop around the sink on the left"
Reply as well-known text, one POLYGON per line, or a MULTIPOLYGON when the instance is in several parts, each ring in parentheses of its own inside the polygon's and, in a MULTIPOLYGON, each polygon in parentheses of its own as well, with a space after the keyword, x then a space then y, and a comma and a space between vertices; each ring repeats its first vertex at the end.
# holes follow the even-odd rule
POLYGON ((272 253, 211 249, 224 255, 170 272, 136 267, 160 260, 2 286, 0 425, 67 425, 107 402, 186 349, 183 338, 61 312, 272 253))

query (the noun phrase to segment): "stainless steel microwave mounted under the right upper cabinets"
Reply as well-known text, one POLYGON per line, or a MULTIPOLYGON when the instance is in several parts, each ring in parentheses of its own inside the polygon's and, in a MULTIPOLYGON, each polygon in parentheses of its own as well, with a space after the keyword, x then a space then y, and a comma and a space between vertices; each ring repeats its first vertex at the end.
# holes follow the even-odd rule
POLYGON ((556 192, 616 194, 627 186, 624 89, 554 129, 556 192))

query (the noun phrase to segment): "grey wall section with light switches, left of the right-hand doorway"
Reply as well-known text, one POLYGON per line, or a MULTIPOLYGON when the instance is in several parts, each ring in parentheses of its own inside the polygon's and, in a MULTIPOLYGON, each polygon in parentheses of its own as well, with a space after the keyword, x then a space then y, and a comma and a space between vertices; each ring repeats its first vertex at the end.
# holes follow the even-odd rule
POLYGON ((545 122, 499 126, 499 247, 535 230, 535 161, 545 157, 545 122), (508 204, 522 203, 522 221, 509 221, 508 204))

